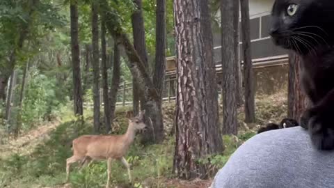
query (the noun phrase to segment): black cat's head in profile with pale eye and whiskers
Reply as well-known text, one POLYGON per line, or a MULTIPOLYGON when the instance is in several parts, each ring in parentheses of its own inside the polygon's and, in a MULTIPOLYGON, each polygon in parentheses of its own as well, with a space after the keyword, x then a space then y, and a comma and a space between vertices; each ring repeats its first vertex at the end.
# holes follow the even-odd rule
POLYGON ((269 34, 276 45, 308 54, 332 45, 333 21, 333 0, 276 0, 269 34))

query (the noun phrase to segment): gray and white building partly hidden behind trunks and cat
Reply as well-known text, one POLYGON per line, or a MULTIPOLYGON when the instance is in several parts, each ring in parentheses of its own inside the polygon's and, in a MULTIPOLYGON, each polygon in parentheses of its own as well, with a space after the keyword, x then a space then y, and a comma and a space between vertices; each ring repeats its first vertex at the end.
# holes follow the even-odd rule
MULTIPOLYGON (((250 39, 253 66, 255 68, 255 85, 257 92, 267 94, 274 93, 287 84, 287 51, 274 45, 269 36, 273 2, 274 0, 249 1, 250 39)), ((242 57, 241 35, 239 36, 239 55, 242 57)), ((213 33, 213 38, 214 61, 216 62, 219 78, 221 76, 221 33, 213 33)), ((167 58, 166 71, 167 80, 168 78, 175 78, 174 56, 167 58)))

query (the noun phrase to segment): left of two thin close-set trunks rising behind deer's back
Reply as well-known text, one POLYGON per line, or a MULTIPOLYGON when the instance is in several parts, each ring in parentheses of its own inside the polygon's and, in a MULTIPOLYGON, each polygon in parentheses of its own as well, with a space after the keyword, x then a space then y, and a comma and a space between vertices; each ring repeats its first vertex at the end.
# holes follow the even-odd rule
POLYGON ((99 15, 97 2, 92 3, 92 45, 93 45, 93 102, 94 132, 100 133, 100 56, 99 56, 99 15))

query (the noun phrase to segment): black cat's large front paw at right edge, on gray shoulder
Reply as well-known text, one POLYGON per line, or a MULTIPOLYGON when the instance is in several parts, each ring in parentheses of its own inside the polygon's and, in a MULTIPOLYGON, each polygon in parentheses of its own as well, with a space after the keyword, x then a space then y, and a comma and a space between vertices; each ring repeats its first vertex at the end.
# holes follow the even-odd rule
POLYGON ((318 150, 334 149, 334 120, 324 116, 312 116, 308 120, 311 141, 318 150))

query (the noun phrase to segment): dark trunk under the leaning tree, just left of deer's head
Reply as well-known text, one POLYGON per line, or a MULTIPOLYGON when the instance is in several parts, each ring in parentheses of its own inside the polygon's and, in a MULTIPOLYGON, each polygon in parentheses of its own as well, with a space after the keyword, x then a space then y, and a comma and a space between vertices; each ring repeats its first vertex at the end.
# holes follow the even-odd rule
POLYGON ((110 119, 115 118, 115 109, 117 102, 117 93, 120 88, 120 49, 118 43, 115 42, 113 47, 113 78, 111 79, 110 97, 110 119))

